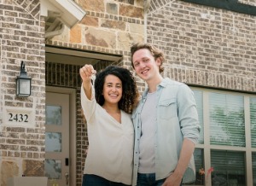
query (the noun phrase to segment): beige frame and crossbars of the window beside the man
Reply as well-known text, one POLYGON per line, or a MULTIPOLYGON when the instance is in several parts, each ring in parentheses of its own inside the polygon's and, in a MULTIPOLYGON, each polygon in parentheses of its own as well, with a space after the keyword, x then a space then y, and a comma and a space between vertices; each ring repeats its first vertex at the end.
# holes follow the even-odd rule
MULTIPOLYGON (((255 97, 255 94, 242 93, 228 90, 215 90, 201 87, 189 86, 191 90, 201 91, 202 93, 202 112, 203 112, 203 143, 197 143, 195 148, 201 148, 204 154, 204 169, 208 170, 211 168, 211 150, 228 150, 245 153, 245 174, 246 184, 253 185, 253 159, 252 154, 256 153, 256 148, 252 148, 251 145, 251 121, 250 121, 250 97, 255 97), (210 144, 210 115, 209 115, 209 93, 220 93, 233 96, 243 96, 244 99, 244 121, 245 121, 245 147, 237 146, 225 146, 225 145, 211 145, 210 144)), ((214 167, 213 167, 214 168, 214 167)), ((196 170, 198 171, 198 170, 196 170)), ((207 175, 205 174, 205 180, 207 175)), ((255 178, 255 177, 254 177, 255 178)), ((208 184, 212 185, 212 177, 208 177, 208 184)))

